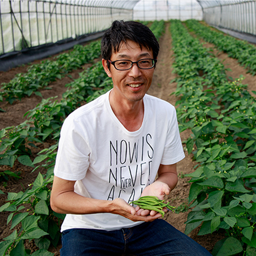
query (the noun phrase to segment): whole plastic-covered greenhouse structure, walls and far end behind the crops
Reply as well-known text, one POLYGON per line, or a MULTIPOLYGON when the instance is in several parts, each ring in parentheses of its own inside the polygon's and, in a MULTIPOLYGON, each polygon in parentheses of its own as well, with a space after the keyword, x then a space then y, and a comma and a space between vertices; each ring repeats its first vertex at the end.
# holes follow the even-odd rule
POLYGON ((99 38, 114 20, 137 19, 204 20, 256 43, 255 0, 0 0, 0 70, 99 38))

